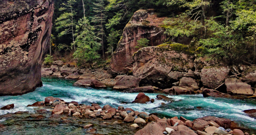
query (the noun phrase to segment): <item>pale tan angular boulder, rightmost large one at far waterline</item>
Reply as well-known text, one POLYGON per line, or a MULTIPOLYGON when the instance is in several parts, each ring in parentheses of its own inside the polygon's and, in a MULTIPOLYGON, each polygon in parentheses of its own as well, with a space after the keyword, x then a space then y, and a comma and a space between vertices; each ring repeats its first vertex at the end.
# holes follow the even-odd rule
POLYGON ((236 78, 227 78, 225 80, 225 85, 229 94, 252 95, 254 93, 251 85, 244 83, 236 78))

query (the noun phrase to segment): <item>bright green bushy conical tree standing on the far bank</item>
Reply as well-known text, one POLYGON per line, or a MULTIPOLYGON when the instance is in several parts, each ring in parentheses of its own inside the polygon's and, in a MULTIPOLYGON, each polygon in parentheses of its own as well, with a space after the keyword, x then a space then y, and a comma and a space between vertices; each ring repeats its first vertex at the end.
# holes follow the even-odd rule
POLYGON ((82 18, 76 25, 76 40, 73 45, 77 46, 73 56, 78 60, 78 65, 83 65, 85 62, 94 62, 100 55, 98 50, 100 48, 100 40, 94 34, 94 28, 90 26, 87 18, 82 18))

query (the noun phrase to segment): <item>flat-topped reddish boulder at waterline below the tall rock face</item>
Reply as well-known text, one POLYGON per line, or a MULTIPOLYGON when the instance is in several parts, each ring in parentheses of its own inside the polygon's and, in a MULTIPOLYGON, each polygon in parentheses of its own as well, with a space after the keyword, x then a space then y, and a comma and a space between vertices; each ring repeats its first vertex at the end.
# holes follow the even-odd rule
POLYGON ((139 79, 131 75, 118 75, 116 76, 116 84, 113 89, 130 89, 139 87, 139 79))

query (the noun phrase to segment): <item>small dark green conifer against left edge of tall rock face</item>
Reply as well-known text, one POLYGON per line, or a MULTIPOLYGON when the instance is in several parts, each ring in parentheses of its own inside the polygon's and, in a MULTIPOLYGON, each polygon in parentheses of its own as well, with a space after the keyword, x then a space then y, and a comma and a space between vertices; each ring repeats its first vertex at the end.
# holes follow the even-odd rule
POLYGON ((110 34, 107 37, 107 41, 108 41, 107 53, 113 54, 113 51, 116 48, 118 41, 120 40, 121 33, 122 33, 121 30, 114 30, 114 28, 110 30, 110 34))

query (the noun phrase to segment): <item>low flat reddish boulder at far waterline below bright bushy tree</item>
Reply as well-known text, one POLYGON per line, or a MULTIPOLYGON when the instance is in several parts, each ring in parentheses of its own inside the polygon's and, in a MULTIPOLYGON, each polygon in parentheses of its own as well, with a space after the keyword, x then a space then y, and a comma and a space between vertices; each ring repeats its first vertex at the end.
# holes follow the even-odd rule
POLYGON ((106 85, 96 79, 80 79, 74 83, 74 86, 84 86, 84 87, 95 87, 95 88, 106 88, 106 85))

